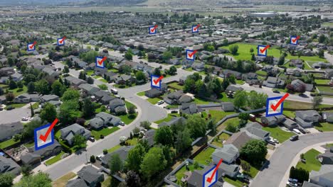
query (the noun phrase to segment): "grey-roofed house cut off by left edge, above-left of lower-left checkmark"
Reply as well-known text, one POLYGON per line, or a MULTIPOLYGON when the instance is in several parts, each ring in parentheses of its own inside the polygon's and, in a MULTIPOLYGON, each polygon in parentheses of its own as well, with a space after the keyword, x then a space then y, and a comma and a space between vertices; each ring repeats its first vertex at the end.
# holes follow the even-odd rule
POLYGON ((6 123, 0 125, 0 141, 9 140, 14 135, 23 131, 21 122, 6 123))

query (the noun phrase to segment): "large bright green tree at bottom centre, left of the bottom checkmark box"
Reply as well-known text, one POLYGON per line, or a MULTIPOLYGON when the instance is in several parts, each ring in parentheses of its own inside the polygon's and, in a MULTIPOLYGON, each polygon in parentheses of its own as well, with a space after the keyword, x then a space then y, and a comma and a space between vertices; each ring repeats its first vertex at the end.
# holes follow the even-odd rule
POLYGON ((142 164, 140 165, 141 173, 146 179, 150 179, 154 174, 165 169, 166 159, 163 150, 159 147, 152 147, 149 152, 144 155, 142 164))

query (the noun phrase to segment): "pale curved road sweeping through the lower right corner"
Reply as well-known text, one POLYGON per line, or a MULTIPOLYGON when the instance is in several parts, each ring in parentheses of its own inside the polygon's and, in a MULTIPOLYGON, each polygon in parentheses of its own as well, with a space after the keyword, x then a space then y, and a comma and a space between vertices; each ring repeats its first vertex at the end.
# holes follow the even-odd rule
POLYGON ((280 182, 285 176, 287 169, 289 169, 295 155, 306 147, 329 141, 333 141, 333 132, 302 135, 300 140, 295 142, 287 140, 275 150, 267 166, 258 173, 253 182, 250 183, 250 186, 264 187, 268 186, 268 184, 269 186, 280 186, 280 182))

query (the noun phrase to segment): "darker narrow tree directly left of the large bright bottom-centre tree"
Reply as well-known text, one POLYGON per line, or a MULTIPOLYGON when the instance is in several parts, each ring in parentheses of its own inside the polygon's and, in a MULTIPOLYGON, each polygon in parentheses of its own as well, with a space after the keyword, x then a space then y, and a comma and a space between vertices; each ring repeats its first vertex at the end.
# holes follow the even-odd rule
POLYGON ((133 149, 130 149, 126 159, 127 169, 139 172, 144 154, 146 154, 146 150, 140 144, 137 144, 133 149))

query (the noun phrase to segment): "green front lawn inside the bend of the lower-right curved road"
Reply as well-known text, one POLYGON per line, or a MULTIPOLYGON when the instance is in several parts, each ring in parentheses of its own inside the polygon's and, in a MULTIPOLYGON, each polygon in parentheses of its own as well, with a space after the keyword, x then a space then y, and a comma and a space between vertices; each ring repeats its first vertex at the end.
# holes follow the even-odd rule
POLYGON ((305 159, 307 160, 306 163, 298 162, 296 168, 303 168, 307 171, 319 171, 322 164, 316 159, 316 157, 320 154, 316 149, 310 149, 308 152, 304 154, 305 159))

